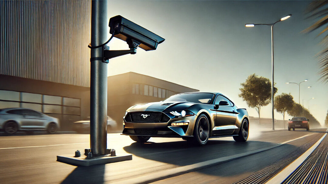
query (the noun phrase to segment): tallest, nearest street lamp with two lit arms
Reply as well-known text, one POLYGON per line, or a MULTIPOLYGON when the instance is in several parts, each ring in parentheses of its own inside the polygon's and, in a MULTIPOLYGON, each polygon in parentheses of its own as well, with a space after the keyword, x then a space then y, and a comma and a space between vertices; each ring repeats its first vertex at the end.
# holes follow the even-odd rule
POLYGON ((282 17, 279 21, 275 23, 270 23, 270 24, 263 24, 263 23, 257 23, 257 24, 245 24, 245 27, 254 27, 256 25, 270 25, 271 26, 271 67, 272 67, 272 81, 271 81, 271 101, 272 101, 272 130, 275 130, 275 107, 274 107, 274 55, 273 55, 273 26, 280 22, 288 19, 292 14, 289 14, 285 17, 282 17))

